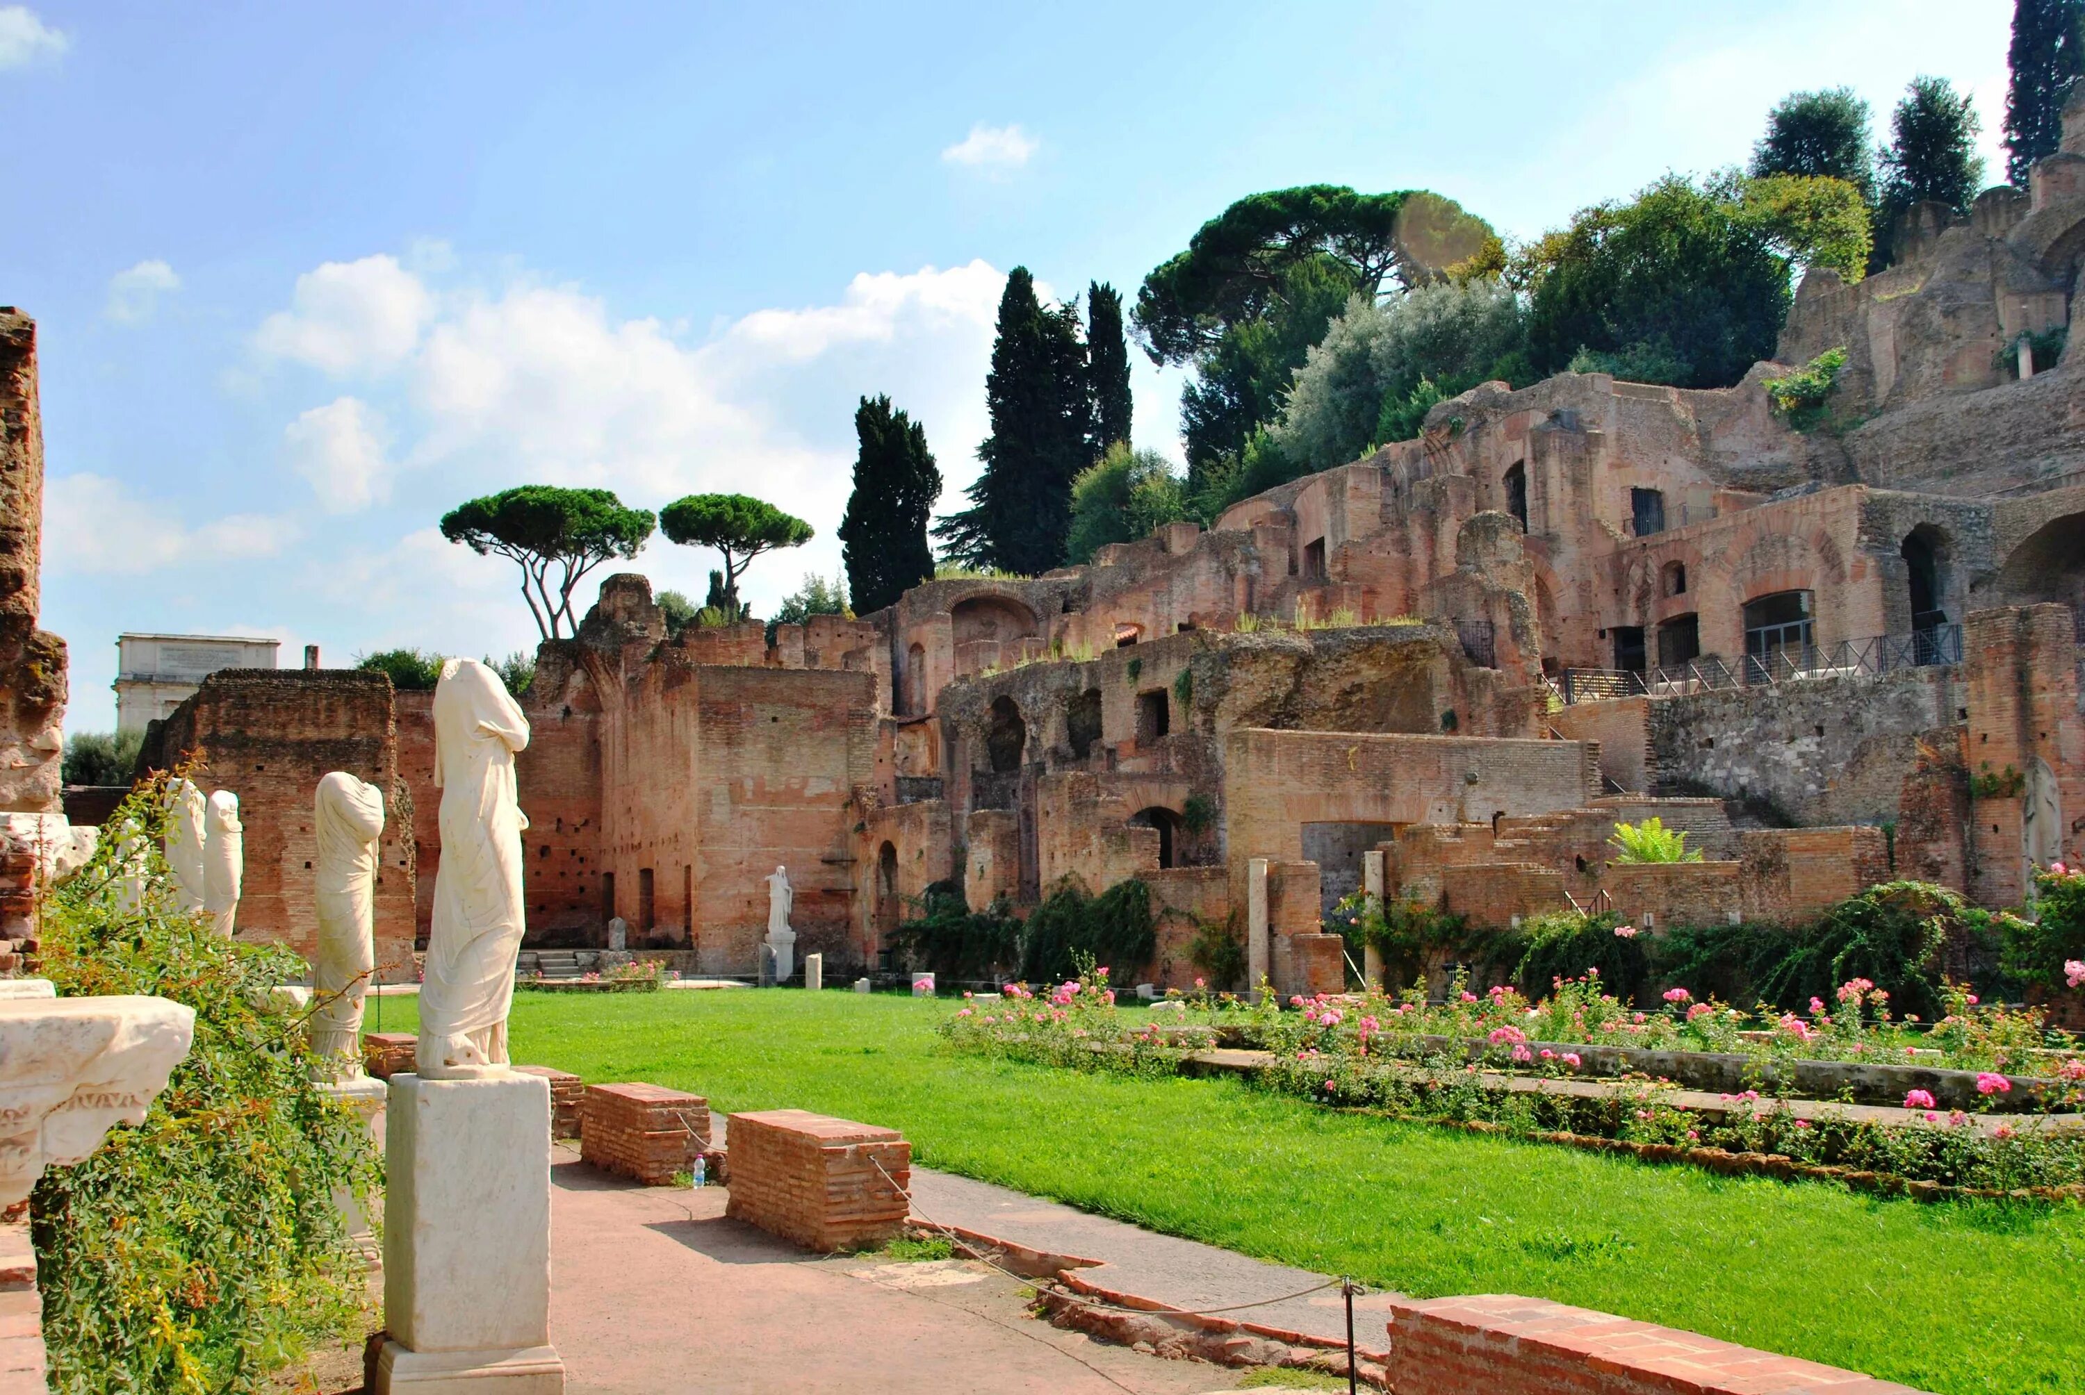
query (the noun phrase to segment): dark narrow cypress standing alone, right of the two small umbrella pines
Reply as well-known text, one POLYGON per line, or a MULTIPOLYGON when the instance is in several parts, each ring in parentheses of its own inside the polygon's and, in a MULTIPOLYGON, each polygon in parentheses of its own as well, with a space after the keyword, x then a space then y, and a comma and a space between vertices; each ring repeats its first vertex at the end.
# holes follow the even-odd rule
POLYGON ((861 615, 880 611, 907 586, 934 576, 926 542, 928 515, 940 498, 940 469, 926 448, 926 430, 888 396, 861 398, 855 409, 855 492, 840 519, 847 592, 861 615))

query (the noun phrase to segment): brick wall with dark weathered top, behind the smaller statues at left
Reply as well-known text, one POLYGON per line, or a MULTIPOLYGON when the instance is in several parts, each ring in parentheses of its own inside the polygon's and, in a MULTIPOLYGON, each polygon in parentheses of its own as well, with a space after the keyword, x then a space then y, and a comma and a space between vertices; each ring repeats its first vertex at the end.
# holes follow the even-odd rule
POLYGON ((148 763, 200 759, 204 790, 240 799, 246 872, 238 936, 317 949, 313 797, 344 769, 384 792, 377 842, 375 955, 384 978, 413 972, 413 794, 398 769, 392 684, 357 669, 221 669, 158 726, 148 763))

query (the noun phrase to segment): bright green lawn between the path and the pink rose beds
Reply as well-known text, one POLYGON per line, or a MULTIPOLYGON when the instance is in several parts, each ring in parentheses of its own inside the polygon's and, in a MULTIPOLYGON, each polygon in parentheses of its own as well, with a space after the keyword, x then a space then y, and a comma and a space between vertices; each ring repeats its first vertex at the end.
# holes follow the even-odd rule
MULTIPOLYGON (((519 993, 517 1061, 901 1128, 930 1168, 1414 1295, 1526 1293, 1929 1391, 2085 1391, 2085 1207, 1922 1205, 949 1055, 947 1003, 519 993)), ((371 1001, 367 1026, 377 1030, 371 1001)), ((413 1001, 382 1001, 413 1030, 413 1001)))

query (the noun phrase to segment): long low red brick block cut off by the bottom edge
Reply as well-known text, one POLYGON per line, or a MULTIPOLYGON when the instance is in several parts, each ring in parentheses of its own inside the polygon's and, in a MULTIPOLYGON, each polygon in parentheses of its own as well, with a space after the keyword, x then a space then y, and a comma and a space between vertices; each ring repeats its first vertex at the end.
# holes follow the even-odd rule
POLYGON ((1908 1385, 1851 1370, 1510 1293, 1401 1301, 1391 1314, 1395 1391, 1916 1395, 1908 1385))

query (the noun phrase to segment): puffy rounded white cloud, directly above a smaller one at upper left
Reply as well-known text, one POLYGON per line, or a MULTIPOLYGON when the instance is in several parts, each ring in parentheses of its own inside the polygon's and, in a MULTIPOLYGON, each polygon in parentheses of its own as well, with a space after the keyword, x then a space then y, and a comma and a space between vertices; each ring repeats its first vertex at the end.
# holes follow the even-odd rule
POLYGON ((382 373, 419 348, 434 296, 396 256, 329 261, 296 277, 290 309, 261 321, 254 346, 334 377, 382 373))

